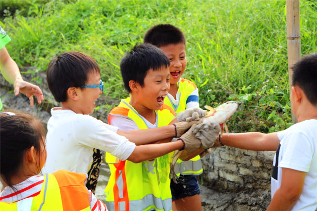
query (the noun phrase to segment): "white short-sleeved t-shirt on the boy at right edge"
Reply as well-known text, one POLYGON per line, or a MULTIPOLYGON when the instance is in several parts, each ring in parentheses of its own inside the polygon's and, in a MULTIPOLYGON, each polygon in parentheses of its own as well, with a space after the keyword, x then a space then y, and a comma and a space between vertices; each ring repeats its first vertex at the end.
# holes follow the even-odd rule
POLYGON ((317 208, 317 120, 297 123, 278 132, 277 136, 280 145, 273 160, 271 196, 273 197, 281 185, 281 168, 304 171, 306 176, 303 191, 292 211, 315 211, 317 208))

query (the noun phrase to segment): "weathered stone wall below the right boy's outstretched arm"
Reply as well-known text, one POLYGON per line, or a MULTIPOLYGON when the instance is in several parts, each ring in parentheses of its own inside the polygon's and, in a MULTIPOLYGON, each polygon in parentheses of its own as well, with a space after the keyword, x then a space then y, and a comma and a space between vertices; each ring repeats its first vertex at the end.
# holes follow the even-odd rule
MULTIPOLYGON (((224 134, 226 135, 226 134, 224 134)), ((275 152, 218 147, 202 159, 202 203, 207 210, 266 210, 275 152)))

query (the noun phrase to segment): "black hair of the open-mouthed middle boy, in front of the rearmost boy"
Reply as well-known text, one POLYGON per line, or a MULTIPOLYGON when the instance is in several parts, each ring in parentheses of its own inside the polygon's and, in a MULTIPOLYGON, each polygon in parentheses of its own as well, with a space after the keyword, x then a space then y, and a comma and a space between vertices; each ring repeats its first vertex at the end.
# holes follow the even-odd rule
POLYGON ((169 68, 169 59, 165 53, 152 44, 135 45, 121 60, 120 70, 125 89, 130 93, 131 80, 144 86, 148 71, 169 68))

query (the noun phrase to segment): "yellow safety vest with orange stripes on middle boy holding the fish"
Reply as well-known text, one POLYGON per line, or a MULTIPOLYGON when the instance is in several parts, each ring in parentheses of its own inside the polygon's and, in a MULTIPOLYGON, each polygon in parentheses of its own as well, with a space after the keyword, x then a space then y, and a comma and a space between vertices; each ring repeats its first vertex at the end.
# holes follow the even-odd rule
MULTIPOLYGON (((145 119, 129 104, 130 98, 121 100, 108 116, 122 116, 133 120, 140 129, 149 128, 145 119)), ((157 126, 166 126, 175 118, 174 111, 163 105, 157 111, 157 126)), ((135 164, 121 161, 106 153, 110 178, 106 186, 106 206, 109 211, 171 211, 168 154, 135 164)))

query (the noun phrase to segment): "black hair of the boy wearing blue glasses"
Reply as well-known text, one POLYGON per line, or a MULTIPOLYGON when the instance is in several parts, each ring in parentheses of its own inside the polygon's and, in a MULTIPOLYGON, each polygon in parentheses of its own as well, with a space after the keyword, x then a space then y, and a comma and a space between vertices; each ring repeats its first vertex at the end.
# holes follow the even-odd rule
POLYGON ((54 58, 48 67, 47 81, 57 102, 67 100, 69 87, 80 87, 88 80, 88 73, 100 73, 97 62, 89 55, 68 51, 54 58))

